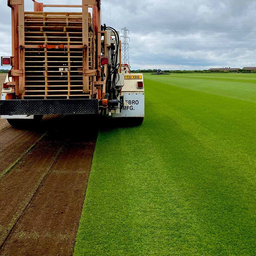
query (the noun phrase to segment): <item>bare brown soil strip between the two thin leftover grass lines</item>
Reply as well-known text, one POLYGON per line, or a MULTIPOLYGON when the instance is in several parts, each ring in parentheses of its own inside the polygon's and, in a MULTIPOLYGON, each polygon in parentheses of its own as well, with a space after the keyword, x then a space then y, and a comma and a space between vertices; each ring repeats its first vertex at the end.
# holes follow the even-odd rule
POLYGON ((57 144, 49 139, 40 141, 0 181, 0 246, 52 167, 60 149, 57 144))

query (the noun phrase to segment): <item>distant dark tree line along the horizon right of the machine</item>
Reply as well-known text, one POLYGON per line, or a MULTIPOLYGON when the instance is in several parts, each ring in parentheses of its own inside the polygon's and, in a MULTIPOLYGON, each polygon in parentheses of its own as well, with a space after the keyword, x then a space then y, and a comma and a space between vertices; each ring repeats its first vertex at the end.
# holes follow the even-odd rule
MULTIPOLYGON (((162 70, 163 73, 256 73, 256 70, 236 70, 236 71, 220 71, 220 70, 162 70)), ((157 69, 148 70, 131 70, 131 73, 157 73, 157 69)))

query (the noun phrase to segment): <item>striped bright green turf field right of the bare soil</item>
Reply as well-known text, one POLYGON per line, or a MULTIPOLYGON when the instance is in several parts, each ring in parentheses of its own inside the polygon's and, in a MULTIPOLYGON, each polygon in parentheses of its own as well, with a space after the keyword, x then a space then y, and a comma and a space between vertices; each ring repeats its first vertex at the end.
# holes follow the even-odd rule
POLYGON ((256 75, 145 75, 99 133, 75 256, 256 255, 256 75))

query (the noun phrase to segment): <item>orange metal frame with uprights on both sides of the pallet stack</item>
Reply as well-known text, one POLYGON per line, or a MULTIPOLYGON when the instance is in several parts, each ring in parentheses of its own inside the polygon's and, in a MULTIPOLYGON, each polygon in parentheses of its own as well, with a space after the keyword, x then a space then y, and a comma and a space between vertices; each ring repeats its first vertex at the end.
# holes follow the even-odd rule
MULTIPOLYGON (((44 3, 34 2, 34 12, 44 12, 45 7, 80 7, 83 17, 83 91, 89 92, 89 76, 96 76, 96 82, 93 81, 92 94, 95 93, 95 84, 100 84, 101 81, 101 0, 81 0, 81 5, 44 5, 44 3), (93 42, 96 40, 95 47, 96 58, 93 63, 96 63, 94 70, 89 70, 88 56, 88 8, 93 9, 93 42)), ((25 31, 24 31, 24 0, 8 0, 8 6, 12 9, 12 81, 15 84, 16 96, 21 96, 25 88, 25 31)), ((43 48, 44 45, 38 48, 43 48)), ((64 46, 63 46, 64 47, 64 46)), ((66 46, 65 46, 66 47, 66 46)), ((100 96, 101 98, 101 96, 100 96)))

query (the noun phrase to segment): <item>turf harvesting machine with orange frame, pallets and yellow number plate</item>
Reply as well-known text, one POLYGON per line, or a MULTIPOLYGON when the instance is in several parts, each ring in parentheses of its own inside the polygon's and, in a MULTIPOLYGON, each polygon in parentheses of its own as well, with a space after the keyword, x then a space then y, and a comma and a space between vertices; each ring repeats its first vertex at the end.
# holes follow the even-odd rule
POLYGON ((119 32, 101 25, 101 0, 81 5, 45 5, 8 0, 12 10, 11 66, 3 83, 0 115, 11 125, 38 122, 43 115, 100 113, 144 117, 142 74, 122 69, 119 32), (45 8, 79 12, 44 12, 45 8))

